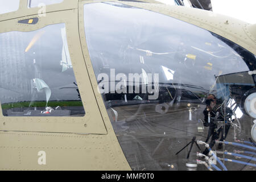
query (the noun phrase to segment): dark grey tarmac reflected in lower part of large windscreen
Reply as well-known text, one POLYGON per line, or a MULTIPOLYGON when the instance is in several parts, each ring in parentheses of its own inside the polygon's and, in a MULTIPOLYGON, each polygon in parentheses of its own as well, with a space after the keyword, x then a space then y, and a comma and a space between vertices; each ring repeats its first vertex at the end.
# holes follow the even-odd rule
MULTIPOLYGON (((196 159, 204 160, 196 156, 196 152, 200 152, 196 144, 193 144, 188 159, 191 145, 179 154, 175 154, 191 142, 193 137, 203 141, 207 138, 209 127, 203 126, 199 121, 204 119, 205 105, 194 105, 196 110, 192 113, 191 121, 189 121, 189 109, 186 103, 180 102, 180 105, 170 106, 164 114, 159 114, 155 110, 157 105, 154 103, 113 107, 118 113, 116 120, 112 109, 108 109, 113 118, 112 125, 115 133, 131 168, 133 170, 188 170, 186 163, 195 163, 196 159)), ((243 121, 242 132, 237 135, 237 139, 248 141, 251 137, 252 121, 245 114, 241 120, 243 121)), ((234 142, 233 127, 230 127, 226 141, 234 142)), ((203 152, 205 147, 201 145, 200 149, 203 152)), ((234 152, 234 150, 243 151, 245 148, 224 144, 221 149, 218 149, 218 144, 215 144, 212 150, 234 152)), ((237 159, 230 155, 217 154, 217 156, 254 163, 249 159, 237 159)), ((224 162, 224 164, 228 170, 255 170, 255 167, 245 164, 232 162, 224 162)), ((201 164, 194 169, 208 170, 201 164)))

